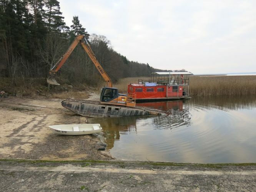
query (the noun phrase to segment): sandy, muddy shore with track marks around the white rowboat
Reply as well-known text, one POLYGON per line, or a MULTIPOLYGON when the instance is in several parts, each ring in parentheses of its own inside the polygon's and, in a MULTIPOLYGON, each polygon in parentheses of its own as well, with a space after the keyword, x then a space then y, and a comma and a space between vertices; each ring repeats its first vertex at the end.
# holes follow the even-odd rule
MULTIPOLYGON (((55 124, 83 124, 86 118, 61 105, 62 99, 0 98, 0 158, 39 160, 110 160, 98 148, 102 135, 61 136, 55 124)), ((100 133, 103 134, 103 133, 100 133)))

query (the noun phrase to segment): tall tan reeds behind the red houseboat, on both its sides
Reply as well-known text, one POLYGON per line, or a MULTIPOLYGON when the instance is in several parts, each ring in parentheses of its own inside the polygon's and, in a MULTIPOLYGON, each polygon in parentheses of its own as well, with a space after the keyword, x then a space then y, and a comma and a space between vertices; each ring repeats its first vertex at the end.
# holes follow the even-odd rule
MULTIPOLYGON (((123 78, 114 84, 120 93, 127 92, 127 85, 138 83, 138 79, 149 77, 123 78)), ((238 96, 256 94, 256 76, 190 76, 190 95, 197 96, 238 96)))

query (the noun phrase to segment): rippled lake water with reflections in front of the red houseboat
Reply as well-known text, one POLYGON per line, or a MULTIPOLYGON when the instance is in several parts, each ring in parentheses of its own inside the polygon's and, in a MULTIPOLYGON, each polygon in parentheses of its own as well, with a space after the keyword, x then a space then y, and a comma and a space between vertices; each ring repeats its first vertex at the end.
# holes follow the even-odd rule
POLYGON ((256 98, 141 103, 167 116, 95 118, 116 159, 194 163, 256 162, 256 98))

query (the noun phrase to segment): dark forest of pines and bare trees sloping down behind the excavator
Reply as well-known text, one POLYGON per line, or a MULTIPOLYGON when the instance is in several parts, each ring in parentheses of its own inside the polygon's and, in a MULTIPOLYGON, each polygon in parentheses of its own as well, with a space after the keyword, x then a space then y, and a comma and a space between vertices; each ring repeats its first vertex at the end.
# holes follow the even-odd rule
MULTIPOLYGON (((78 16, 64 22, 57 0, 0 0, 0 76, 47 78, 49 70, 77 35, 85 35, 101 66, 113 82, 120 78, 150 76, 148 63, 129 61, 111 48, 105 36, 88 34, 78 16)), ((185 70, 183 70, 185 71, 185 70)), ((69 82, 93 83, 100 74, 80 45, 58 71, 69 82)))

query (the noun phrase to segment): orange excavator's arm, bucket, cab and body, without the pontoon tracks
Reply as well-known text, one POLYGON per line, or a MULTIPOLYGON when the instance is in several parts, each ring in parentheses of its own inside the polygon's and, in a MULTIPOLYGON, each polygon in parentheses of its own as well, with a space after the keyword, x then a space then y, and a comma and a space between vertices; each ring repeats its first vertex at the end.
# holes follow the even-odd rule
POLYGON ((102 66, 96 59, 95 54, 91 50, 91 47, 89 43, 86 41, 86 38, 84 35, 79 35, 75 38, 73 43, 70 45, 66 53, 60 58, 60 60, 53 66, 53 68, 49 71, 49 77, 47 78, 48 84, 53 85, 60 85, 55 80, 54 76, 55 73, 57 73, 58 70, 62 67, 62 65, 65 63, 65 61, 68 59, 72 51, 75 49, 75 47, 80 43, 80 45, 83 47, 85 52, 90 57, 91 61, 95 65, 96 69, 99 71, 103 79, 106 81, 106 87, 101 89, 100 94, 100 103, 101 104, 110 104, 110 105, 117 105, 117 106, 126 106, 126 107, 135 107, 135 95, 131 94, 120 94, 118 93, 117 88, 113 88, 112 81, 108 74, 103 70, 102 66))

